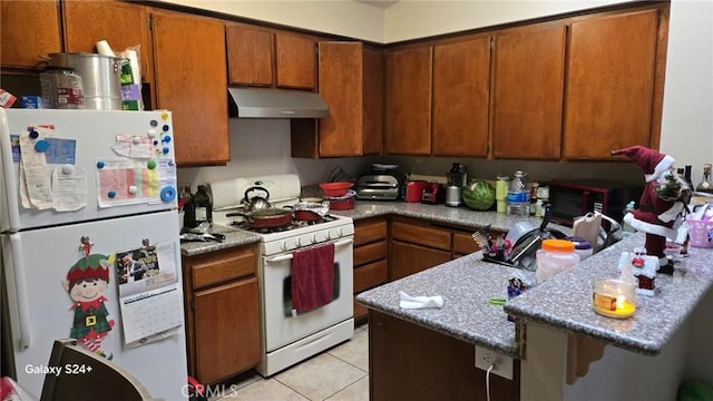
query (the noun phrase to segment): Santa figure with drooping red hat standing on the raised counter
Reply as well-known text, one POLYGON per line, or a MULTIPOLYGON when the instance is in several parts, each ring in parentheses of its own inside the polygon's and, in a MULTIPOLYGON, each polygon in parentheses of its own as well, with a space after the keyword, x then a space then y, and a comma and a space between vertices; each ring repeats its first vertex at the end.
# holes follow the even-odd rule
POLYGON ((691 200, 691 188, 672 167, 674 158, 644 146, 612 150, 624 155, 644 170, 644 192, 638 208, 624 216, 624 222, 646 233, 646 254, 658 257, 658 272, 672 274, 673 265, 664 254, 666 238, 675 241, 677 229, 691 200))

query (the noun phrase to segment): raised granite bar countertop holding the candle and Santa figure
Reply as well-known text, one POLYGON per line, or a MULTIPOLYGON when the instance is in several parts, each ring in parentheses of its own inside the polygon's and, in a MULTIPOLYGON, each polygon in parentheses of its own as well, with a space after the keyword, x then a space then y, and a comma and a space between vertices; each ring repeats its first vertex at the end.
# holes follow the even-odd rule
POLYGON ((505 310, 526 321, 588 335, 642 354, 658 354, 710 291, 713 250, 688 247, 688 256, 675 265, 673 275, 656 276, 655 295, 637 295, 636 311, 631 317, 618 320, 595 313, 593 281, 617 277, 622 252, 643 245, 644 234, 636 233, 511 300, 505 310))

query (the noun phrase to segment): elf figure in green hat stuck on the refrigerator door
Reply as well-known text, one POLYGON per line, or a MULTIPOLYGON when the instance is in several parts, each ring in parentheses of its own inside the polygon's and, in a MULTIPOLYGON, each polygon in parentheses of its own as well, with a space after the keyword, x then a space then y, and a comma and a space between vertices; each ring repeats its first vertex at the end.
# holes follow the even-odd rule
POLYGON ((75 317, 69 335, 87 350, 102 356, 107 355, 101 351, 101 341, 115 324, 113 319, 108 319, 109 311, 104 305, 110 265, 105 255, 88 255, 69 270, 67 281, 62 282, 62 287, 74 301, 71 310, 75 317))

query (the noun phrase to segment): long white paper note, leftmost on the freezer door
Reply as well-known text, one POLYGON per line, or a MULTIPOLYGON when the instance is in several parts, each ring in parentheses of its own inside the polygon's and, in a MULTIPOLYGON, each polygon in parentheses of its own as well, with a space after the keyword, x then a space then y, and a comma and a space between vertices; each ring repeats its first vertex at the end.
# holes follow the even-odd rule
POLYGON ((43 138, 53 129, 36 127, 20 134, 20 190, 22 207, 47 209, 52 207, 52 188, 47 174, 43 138))

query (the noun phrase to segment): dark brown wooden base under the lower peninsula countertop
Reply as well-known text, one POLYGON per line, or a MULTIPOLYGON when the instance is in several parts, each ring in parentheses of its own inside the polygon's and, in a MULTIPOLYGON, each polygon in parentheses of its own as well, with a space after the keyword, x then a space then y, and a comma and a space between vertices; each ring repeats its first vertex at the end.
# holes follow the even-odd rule
MULTIPOLYGON (((369 310, 369 399, 486 400, 486 371, 475 345, 369 310)), ((490 399, 520 399, 520 365, 514 380, 490 374, 490 399)))

